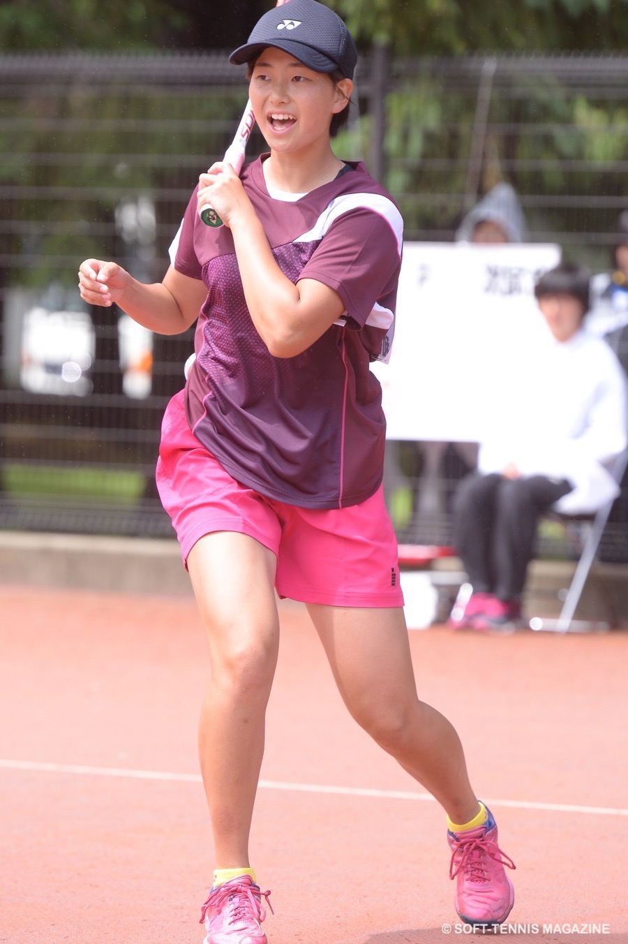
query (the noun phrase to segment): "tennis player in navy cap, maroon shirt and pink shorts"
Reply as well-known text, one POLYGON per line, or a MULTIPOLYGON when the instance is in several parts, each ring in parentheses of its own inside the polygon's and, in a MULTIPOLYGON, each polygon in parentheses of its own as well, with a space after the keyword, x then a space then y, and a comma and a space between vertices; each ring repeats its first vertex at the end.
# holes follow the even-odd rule
POLYGON ((196 359, 163 420, 157 484, 211 660, 200 758, 215 846, 205 944, 266 944, 249 833, 277 659, 280 597, 306 603, 355 720, 448 817, 462 919, 504 921, 512 885, 454 728, 421 702, 397 543, 382 495, 385 419, 369 369, 388 358, 402 219, 362 163, 336 157, 355 44, 315 0, 290 0, 230 58, 248 63, 270 153, 214 164, 163 282, 80 266, 91 304, 164 334, 196 321, 196 359), (289 15, 288 12, 289 11, 289 15), (223 228, 208 228, 210 204, 223 228))

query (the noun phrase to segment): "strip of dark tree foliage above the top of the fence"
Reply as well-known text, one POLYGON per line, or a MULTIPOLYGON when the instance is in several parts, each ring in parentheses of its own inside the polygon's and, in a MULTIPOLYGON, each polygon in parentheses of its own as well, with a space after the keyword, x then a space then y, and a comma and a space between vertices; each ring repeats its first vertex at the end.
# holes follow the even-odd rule
MULTIPOLYGON (((628 0, 327 0, 363 48, 401 56, 475 51, 625 50, 628 0)), ((272 0, 271 0, 272 3, 272 0)), ((246 38, 268 0, 6 0, 0 50, 226 49, 246 38)))

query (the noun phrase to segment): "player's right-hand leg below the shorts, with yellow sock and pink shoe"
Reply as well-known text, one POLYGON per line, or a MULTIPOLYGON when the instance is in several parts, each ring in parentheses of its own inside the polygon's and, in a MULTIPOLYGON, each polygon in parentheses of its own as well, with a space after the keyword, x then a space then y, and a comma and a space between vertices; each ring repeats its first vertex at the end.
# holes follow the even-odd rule
POLYGON ((504 866, 515 867, 471 789, 454 727, 417 697, 403 610, 308 610, 351 714, 448 814, 458 915, 469 924, 501 924, 515 900, 504 866))

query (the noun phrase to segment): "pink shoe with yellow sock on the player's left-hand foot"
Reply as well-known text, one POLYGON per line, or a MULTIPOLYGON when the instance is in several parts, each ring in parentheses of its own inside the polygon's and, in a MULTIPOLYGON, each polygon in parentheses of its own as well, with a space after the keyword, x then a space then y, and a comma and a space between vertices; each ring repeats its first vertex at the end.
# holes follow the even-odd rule
POLYGON ((266 918, 261 900, 265 898, 273 911, 270 894, 260 891, 249 875, 238 875, 212 888, 199 921, 207 931, 203 944, 268 944, 261 929, 266 918))

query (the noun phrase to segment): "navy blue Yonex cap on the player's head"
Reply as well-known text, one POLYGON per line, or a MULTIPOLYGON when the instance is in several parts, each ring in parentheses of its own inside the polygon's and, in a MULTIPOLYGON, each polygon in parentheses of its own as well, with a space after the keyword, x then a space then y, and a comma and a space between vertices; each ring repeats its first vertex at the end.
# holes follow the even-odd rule
POLYGON ((354 77, 357 51, 346 25, 333 9, 316 0, 289 0, 264 13, 248 42, 229 61, 241 65, 268 46, 283 49, 314 72, 334 72, 354 77))

